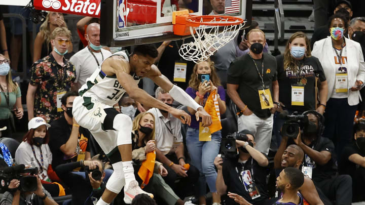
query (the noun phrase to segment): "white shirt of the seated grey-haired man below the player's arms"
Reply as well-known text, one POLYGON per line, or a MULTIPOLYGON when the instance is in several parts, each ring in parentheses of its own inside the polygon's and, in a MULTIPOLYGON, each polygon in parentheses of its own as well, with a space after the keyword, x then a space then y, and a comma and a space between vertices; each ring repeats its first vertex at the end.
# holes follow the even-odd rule
POLYGON ((148 112, 155 116, 155 141, 157 148, 163 153, 174 152, 182 142, 181 122, 168 113, 167 118, 159 109, 151 108, 148 112))

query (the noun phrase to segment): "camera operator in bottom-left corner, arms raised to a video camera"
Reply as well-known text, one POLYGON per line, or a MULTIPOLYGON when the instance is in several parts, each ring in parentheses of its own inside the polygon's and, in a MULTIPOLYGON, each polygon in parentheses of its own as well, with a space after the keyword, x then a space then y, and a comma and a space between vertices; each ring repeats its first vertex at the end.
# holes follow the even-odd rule
POLYGON ((24 191, 18 179, 10 181, 8 191, 3 194, 0 205, 58 205, 51 194, 42 186, 41 179, 36 177, 36 190, 24 191))

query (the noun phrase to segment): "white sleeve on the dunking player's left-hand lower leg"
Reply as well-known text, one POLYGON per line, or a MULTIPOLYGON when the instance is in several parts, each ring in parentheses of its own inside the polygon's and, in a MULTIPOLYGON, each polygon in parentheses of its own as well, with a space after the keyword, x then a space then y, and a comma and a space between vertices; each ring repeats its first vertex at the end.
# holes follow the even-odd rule
POLYGON ((106 188, 114 193, 119 193, 125 185, 123 163, 119 161, 112 165, 114 172, 106 182, 106 188))

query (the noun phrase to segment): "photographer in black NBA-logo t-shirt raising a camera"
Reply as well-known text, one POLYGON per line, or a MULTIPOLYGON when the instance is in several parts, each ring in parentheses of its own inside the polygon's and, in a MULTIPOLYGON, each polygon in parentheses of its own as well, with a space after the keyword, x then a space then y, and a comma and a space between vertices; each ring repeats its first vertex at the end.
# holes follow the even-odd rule
MULTIPOLYGON (((237 193, 252 204, 268 204, 269 193, 266 184, 268 158, 254 148, 254 136, 251 132, 243 130, 234 135, 237 137, 235 146, 232 147, 238 148, 238 156, 229 158, 232 153, 226 152, 225 157, 217 156, 214 159, 214 165, 218 170, 215 182, 217 192, 220 195, 227 192, 237 193)), ((229 144, 225 139, 222 140, 222 146, 227 148, 226 145, 229 144)), ((237 153, 235 148, 233 151, 237 153)), ((232 198, 227 198, 223 200, 223 204, 236 204, 236 202, 232 198)))

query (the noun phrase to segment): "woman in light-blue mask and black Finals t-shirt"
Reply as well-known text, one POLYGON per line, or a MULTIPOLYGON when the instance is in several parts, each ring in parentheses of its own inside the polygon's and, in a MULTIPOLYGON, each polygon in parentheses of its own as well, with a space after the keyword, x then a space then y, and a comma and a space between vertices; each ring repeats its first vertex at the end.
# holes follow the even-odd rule
POLYGON ((284 124, 279 112, 283 109, 289 114, 298 111, 317 110, 323 114, 327 101, 327 81, 318 58, 311 56, 307 35, 296 32, 290 36, 285 52, 276 56, 279 105, 274 117, 274 129, 278 146, 281 142, 279 130, 284 124), (317 81, 319 78, 319 81, 317 81), (319 87, 319 99, 316 87, 319 87))

